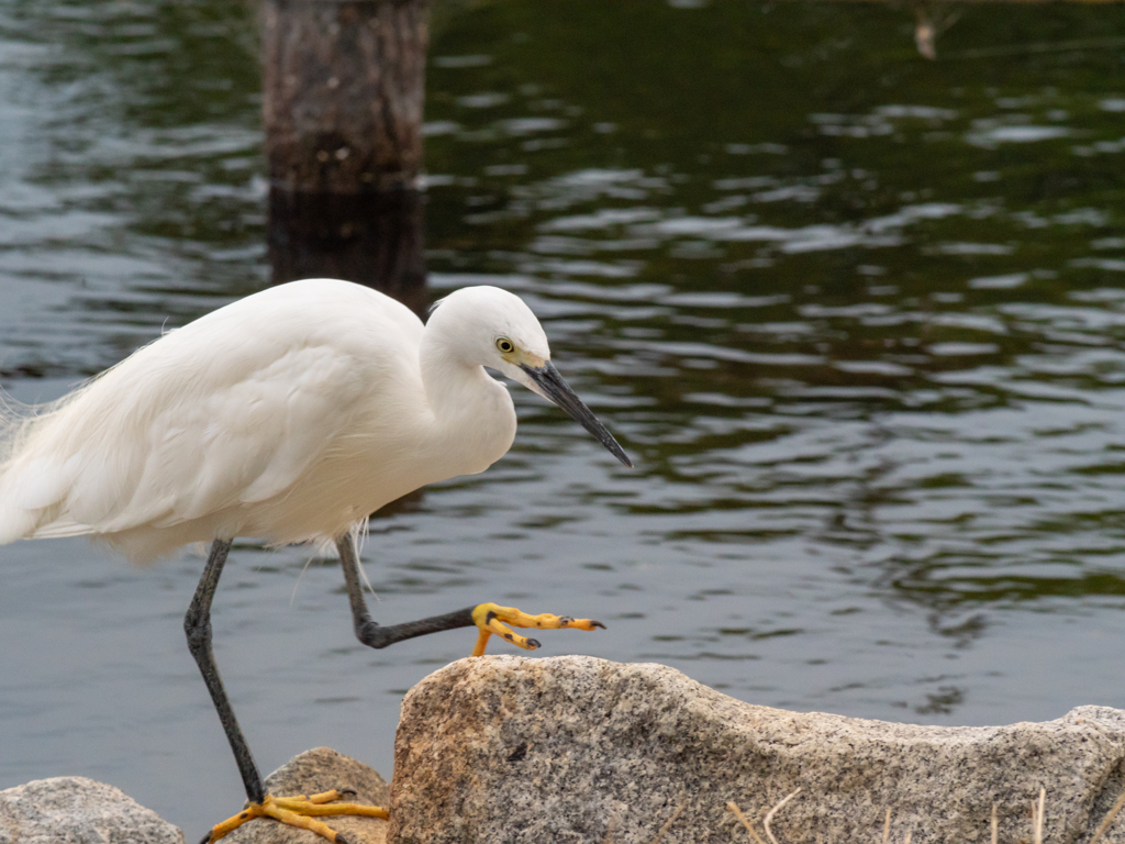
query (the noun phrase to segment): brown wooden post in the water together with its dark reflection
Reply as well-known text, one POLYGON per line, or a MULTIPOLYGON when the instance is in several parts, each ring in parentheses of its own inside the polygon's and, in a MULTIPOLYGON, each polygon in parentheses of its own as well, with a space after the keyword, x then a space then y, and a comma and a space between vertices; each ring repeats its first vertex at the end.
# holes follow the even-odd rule
POLYGON ((263 0, 273 284, 330 277, 425 307, 425 0, 263 0))

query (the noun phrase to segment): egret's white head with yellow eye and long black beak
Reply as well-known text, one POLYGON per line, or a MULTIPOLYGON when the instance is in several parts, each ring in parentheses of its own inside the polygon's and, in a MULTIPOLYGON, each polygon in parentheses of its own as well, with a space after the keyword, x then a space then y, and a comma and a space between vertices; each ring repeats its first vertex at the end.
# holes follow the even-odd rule
POLYGON ((551 363, 547 334, 523 299, 498 287, 462 287, 435 308, 431 323, 449 323, 448 331, 457 335, 459 351, 467 360, 497 369, 558 405, 618 460, 632 468, 613 434, 551 363))

